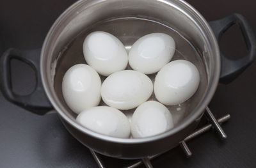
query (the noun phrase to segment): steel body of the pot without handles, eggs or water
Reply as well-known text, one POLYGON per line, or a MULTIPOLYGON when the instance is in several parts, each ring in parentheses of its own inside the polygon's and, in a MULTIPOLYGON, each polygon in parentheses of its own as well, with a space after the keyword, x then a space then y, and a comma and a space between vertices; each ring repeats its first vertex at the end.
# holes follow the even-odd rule
MULTIPOLYGON (((125 28, 122 27, 118 31, 125 31, 125 28)), ((129 48, 129 43, 125 46, 129 48)), ((67 67, 63 66, 63 68, 67 67)), ((41 75, 49 100, 60 114, 66 128, 78 141, 103 155, 117 158, 142 158, 163 153, 177 146, 189 132, 195 129, 198 122, 195 122, 195 119, 204 112, 218 84, 220 52, 211 27, 200 13, 185 1, 77 1, 56 20, 45 38, 41 54, 41 75), (191 104, 193 108, 175 128, 163 134, 143 139, 118 139, 92 132, 76 123, 76 115, 61 102, 60 94, 58 95, 54 88, 56 66, 74 37, 79 35, 84 27, 90 27, 102 20, 120 17, 140 17, 172 27, 195 46, 204 63, 207 85, 202 89, 201 94, 196 96, 198 101, 191 104), (150 148, 151 146, 154 148, 150 148)))

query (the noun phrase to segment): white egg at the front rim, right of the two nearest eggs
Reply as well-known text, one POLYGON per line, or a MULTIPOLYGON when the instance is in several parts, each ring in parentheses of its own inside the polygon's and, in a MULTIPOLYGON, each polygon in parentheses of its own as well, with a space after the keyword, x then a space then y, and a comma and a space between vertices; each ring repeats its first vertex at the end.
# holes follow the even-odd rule
POLYGON ((161 103, 142 103, 132 115, 132 137, 149 137, 173 128, 171 112, 161 103))

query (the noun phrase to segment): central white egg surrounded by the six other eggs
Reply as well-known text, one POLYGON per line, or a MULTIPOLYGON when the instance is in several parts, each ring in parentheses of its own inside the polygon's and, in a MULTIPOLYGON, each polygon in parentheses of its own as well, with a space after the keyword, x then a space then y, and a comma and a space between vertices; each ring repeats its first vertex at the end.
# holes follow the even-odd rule
POLYGON ((124 70, 109 75, 102 83, 102 100, 116 109, 128 110, 146 102, 153 92, 147 75, 134 70, 124 70))

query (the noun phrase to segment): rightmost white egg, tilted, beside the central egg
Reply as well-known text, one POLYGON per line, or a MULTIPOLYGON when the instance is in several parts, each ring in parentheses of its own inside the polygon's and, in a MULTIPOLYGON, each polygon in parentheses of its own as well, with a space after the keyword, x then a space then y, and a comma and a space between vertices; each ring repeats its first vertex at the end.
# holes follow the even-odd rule
POLYGON ((176 60, 165 65, 156 75, 154 93, 159 102, 177 105, 194 95, 200 75, 193 63, 176 60))

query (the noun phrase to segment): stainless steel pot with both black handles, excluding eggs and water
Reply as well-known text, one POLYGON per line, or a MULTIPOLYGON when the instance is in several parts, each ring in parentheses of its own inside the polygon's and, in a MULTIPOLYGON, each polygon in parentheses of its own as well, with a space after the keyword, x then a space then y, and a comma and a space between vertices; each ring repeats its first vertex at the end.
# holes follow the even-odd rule
MULTIPOLYGON (((256 52, 255 44, 252 29, 246 20, 238 14, 230 15, 209 24, 198 11, 185 1, 81 0, 70 6, 56 20, 45 38, 42 51, 9 49, 4 52, 0 61, 1 90, 8 100, 36 114, 45 114, 53 106, 60 114, 61 120, 70 134, 88 148, 102 153, 102 155, 116 158, 142 158, 163 153, 177 146, 182 139, 195 129, 205 111, 205 107, 214 95, 219 79, 223 83, 228 83, 243 72, 253 61, 256 52), (136 22, 134 24, 125 24, 127 22, 124 24, 115 23, 115 20, 122 19, 137 19, 136 22, 146 20, 147 22, 157 23, 158 26, 156 28, 150 26, 150 24, 145 24, 136 27, 138 25, 136 22), (108 26, 99 27, 102 22, 108 22, 108 26), (223 54, 220 54, 218 47, 218 40, 220 40, 221 35, 233 24, 238 24, 241 27, 249 50, 248 56, 236 61, 227 59, 223 54), (68 46, 72 45, 75 40, 74 37, 79 36, 81 32, 83 34, 84 31, 84 35, 89 33, 93 29, 92 26, 97 25, 97 29, 111 31, 111 33, 118 36, 127 49, 129 49, 132 42, 143 34, 156 31, 164 32, 166 27, 168 29, 172 27, 172 31, 174 29, 176 33, 193 46, 198 58, 192 61, 198 64, 198 68, 202 69, 200 88, 193 96, 193 100, 189 102, 186 115, 172 130, 143 139, 119 139, 97 134, 76 123, 76 115, 68 109, 63 101, 60 88, 63 73, 65 73, 68 66, 76 63, 77 59, 76 56, 65 58, 63 55, 68 52, 68 46), (141 27, 143 29, 140 29, 141 27), (40 66, 39 57, 35 56, 39 53, 41 53, 40 66), (13 93, 10 78, 11 59, 20 59, 36 70, 37 85, 35 91, 30 95, 20 96, 13 93)), ((72 54, 79 55, 80 52, 81 50, 73 50, 72 54)), ((184 52, 189 55, 190 51, 184 52)))

